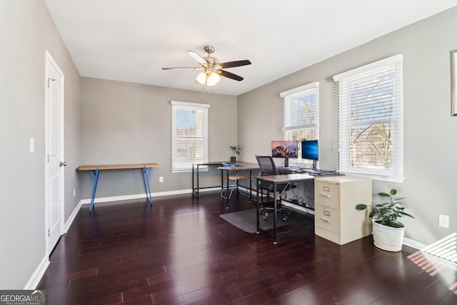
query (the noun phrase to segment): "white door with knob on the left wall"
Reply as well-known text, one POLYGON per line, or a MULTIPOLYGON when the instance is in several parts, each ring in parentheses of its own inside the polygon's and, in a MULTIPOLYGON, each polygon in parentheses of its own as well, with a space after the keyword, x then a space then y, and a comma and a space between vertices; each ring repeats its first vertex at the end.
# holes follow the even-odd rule
POLYGON ((64 231, 64 74, 46 51, 45 196, 46 253, 64 231))

